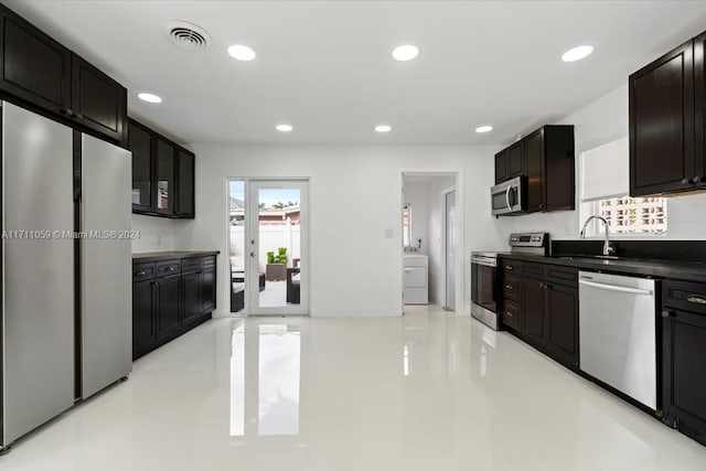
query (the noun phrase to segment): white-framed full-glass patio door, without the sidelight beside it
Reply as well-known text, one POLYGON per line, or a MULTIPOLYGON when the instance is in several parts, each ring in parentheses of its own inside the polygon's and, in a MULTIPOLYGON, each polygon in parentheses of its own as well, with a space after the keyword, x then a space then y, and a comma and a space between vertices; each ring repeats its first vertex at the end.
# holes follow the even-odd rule
POLYGON ((250 180, 246 214, 249 314, 309 313, 307 180, 250 180))

